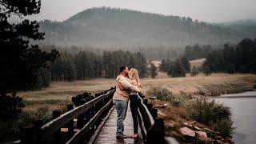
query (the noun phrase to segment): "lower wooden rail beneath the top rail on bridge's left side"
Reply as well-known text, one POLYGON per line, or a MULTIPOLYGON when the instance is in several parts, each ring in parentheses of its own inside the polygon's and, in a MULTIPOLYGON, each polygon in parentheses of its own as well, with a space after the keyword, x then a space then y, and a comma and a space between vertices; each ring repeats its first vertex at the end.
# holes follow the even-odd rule
POLYGON ((98 118, 100 118, 101 114, 112 104, 112 100, 110 100, 110 102, 108 102, 106 104, 106 106, 102 107, 101 110, 98 111, 97 114, 94 115, 93 118, 90 119, 89 122, 86 123, 86 126, 84 126, 81 130, 79 130, 76 134, 74 134, 74 136, 72 138, 70 138, 70 140, 68 142, 66 142, 66 144, 70 144, 70 143, 77 143, 79 141, 80 138, 82 138, 82 136, 84 134, 86 134, 86 132, 89 130, 90 126, 93 126, 94 123, 98 120, 98 118))

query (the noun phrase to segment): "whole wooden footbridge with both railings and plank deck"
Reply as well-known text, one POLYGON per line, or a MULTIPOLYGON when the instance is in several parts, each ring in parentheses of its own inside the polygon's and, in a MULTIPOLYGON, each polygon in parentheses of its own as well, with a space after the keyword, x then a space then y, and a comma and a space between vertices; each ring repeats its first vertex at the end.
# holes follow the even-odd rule
MULTIPOLYGON (((117 114, 112 98, 114 88, 101 94, 95 94, 94 99, 81 106, 67 106, 66 113, 60 115, 53 112, 50 122, 41 121, 22 128, 19 143, 170 143, 164 136, 164 122, 158 118, 158 110, 148 103, 140 94, 143 102, 138 106, 139 138, 115 138, 117 114)), ((127 110, 125 134, 133 134, 133 120, 130 108, 127 110)))

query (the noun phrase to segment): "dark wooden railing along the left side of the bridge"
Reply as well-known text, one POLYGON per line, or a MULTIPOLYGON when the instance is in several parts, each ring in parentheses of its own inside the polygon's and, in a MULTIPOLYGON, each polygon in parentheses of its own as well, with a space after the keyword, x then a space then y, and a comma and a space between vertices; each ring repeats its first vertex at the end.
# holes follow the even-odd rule
POLYGON ((69 105, 65 114, 54 112, 54 119, 44 125, 42 122, 34 122, 33 126, 26 126, 22 129, 21 142, 66 144, 90 142, 102 119, 111 108, 113 109, 114 91, 115 89, 111 88, 103 94, 95 94, 96 98, 82 106, 73 108, 73 105, 69 105))

